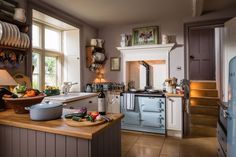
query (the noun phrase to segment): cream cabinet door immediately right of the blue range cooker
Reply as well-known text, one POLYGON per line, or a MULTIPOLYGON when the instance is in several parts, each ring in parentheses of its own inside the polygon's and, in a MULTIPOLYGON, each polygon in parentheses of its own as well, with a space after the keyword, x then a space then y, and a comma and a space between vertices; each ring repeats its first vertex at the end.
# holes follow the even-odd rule
POLYGON ((182 130, 182 98, 167 98, 167 129, 182 130))

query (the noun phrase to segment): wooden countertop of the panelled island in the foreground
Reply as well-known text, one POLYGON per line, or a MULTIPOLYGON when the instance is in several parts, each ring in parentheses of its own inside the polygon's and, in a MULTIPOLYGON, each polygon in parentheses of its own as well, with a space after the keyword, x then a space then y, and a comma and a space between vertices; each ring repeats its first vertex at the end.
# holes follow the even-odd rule
POLYGON ((96 134, 104 131, 109 125, 120 121, 124 117, 123 114, 119 113, 108 114, 108 116, 112 117, 113 121, 90 127, 70 127, 65 124, 63 119, 32 121, 29 114, 15 114, 12 109, 8 109, 4 112, 0 112, 0 124, 83 139, 92 139, 96 134))

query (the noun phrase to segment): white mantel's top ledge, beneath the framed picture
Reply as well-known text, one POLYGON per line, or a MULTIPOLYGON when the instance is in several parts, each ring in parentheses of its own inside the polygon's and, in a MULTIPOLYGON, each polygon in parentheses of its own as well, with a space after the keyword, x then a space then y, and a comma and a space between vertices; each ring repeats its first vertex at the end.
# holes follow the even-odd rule
POLYGON ((175 46, 175 43, 170 44, 157 44, 157 45, 140 45, 140 46, 128 46, 128 47, 117 47, 117 49, 121 52, 128 50, 140 50, 140 49, 166 49, 167 52, 170 52, 171 49, 175 46))

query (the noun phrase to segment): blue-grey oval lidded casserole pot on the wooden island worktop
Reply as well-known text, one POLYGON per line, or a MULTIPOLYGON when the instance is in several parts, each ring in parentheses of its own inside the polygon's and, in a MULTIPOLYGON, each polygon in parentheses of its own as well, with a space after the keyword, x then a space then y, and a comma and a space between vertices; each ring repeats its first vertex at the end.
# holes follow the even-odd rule
POLYGON ((43 102, 31 107, 25 107, 30 112, 30 118, 35 121, 53 120, 62 116, 61 103, 43 102))

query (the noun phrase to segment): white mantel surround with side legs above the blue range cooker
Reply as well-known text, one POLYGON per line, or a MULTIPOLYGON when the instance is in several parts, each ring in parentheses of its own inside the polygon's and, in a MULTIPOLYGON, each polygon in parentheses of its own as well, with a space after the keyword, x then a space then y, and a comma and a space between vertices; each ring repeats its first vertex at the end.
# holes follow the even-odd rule
POLYGON ((170 76, 170 57, 169 52, 175 46, 171 44, 157 44, 157 45, 142 45, 142 46, 129 46, 129 47, 117 47, 122 56, 123 67, 123 81, 127 84, 127 67, 126 63, 129 61, 140 60, 165 60, 166 76, 170 76))

